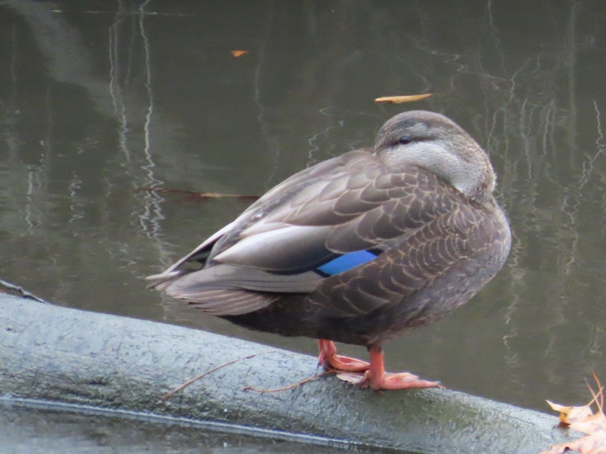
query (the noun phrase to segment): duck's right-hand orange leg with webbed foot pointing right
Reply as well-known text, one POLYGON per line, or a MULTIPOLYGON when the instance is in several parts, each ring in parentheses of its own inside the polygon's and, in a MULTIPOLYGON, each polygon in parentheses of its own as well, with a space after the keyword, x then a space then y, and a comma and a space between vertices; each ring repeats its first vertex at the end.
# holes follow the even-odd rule
POLYGON ((386 373, 383 352, 379 344, 370 344, 368 353, 370 354, 370 368, 364 373, 364 378, 359 383, 361 387, 368 387, 372 390, 442 387, 438 381, 421 380, 412 373, 386 373))

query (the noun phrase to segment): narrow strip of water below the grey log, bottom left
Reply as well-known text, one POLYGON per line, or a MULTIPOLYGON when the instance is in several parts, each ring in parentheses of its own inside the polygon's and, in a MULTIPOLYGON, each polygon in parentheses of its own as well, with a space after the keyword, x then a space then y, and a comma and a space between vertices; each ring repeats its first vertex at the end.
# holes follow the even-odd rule
MULTIPOLYGON (((69 412, 44 407, 22 407, 0 402, 0 446, 2 453, 299 453, 328 454, 358 452, 371 454, 376 449, 344 445, 331 446, 315 439, 309 447, 304 438, 296 442, 284 436, 250 435, 242 427, 221 432, 211 424, 162 418, 145 419, 135 415, 101 415, 94 412, 69 412)), ((294 437, 293 437, 294 438, 294 437)))

